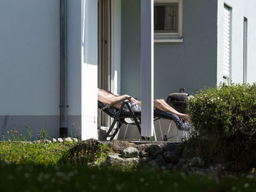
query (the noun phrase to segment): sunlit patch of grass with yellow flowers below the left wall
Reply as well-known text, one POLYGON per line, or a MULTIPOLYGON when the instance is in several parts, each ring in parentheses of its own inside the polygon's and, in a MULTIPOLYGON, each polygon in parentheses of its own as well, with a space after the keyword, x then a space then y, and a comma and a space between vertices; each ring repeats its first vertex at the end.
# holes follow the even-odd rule
POLYGON ((53 165, 61 161, 74 143, 0 142, 0 161, 14 164, 53 165))

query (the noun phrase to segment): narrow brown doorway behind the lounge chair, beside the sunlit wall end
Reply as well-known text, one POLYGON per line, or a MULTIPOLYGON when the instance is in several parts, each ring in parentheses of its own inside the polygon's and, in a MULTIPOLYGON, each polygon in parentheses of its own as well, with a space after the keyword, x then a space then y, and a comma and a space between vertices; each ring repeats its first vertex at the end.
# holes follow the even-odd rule
MULTIPOLYGON (((98 0, 98 88, 111 91, 111 0, 98 0)), ((98 127, 110 118, 98 111, 98 127)))

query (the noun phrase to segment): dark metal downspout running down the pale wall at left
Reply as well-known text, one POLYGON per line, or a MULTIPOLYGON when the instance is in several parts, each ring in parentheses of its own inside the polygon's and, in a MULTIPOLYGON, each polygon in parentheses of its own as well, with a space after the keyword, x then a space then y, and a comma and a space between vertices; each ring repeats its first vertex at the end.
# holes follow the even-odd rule
POLYGON ((60 0, 60 128, 67 137, 67 0, 60 0))

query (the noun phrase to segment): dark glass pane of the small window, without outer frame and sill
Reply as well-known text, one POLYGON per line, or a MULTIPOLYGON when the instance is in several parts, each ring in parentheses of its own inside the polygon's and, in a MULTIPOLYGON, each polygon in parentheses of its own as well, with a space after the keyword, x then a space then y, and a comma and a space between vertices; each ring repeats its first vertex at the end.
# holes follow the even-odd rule
POLYGON ((154 32, 178 33, 178 3, 154 4, 154 32))

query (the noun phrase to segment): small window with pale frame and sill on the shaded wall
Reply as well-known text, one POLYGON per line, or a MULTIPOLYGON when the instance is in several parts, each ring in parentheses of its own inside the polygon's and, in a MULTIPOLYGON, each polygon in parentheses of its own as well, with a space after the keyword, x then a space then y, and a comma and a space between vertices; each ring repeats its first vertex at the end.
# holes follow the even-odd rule
POLYGON ((182 42, 182 0, 154 1, 154 42, 182 42))

